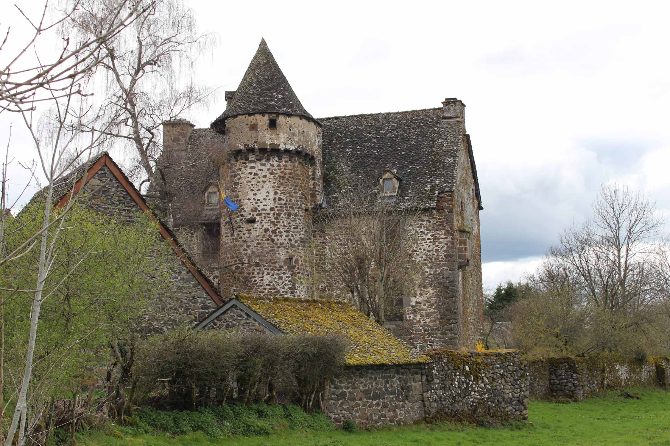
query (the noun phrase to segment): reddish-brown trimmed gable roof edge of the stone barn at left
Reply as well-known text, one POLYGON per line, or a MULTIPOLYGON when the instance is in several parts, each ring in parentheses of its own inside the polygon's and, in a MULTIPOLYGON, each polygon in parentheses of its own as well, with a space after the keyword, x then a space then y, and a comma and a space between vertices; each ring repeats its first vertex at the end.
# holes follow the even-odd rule
MULTIPOLYGON (((223 303, 222 298, 219 296, 218 292, 216 292, 216 287, 214 284, 208 279, 208 277, 204 276, 201 272, 196 263, 193 261, 192 257, 186 252, 186 249, 179 243, 177 240, 176 236, 172 232, 172 230, 163 225, 161 221, 158 219, 158 217, 151 211, 151 208, 147 205, 147 202, 144 200, 144 197, 142 197, 141 193, 137 189, 135 189, 135 186, 131 181, 126 177, 125 173, 121 170, 121 168, 117 165, 116 162, 112 159, 111 156, 109 156, 109 153, 107 152, 100 152, 96 154, 96 156, 93 156, 90 158, 88 162, 85 164, 82 164, 81 166, 78 166, 77 169, 74 169, 72 173, 66 175, 63 179, 60 179, 59 181, 54 184, 54 192, 53 192, 53 197, 54 197, 54 207, 58 209, 58 207, 62 207, 68 203, 70 200, 70 195, 71 193, 78 193, 80 189, 90 181, 94 177, 94 175, 102 169, 103 166, 107 166, 107 169, 111 171, 111 173, 114 175, 114 177, 121 183, 121 186, 123 186, 123 189, 128 193, 128 195, 131 196, 133 201, 137 204, 139 209, 147 213, 151 219, 157 221, 158 223, 158 229, 161 233, 161 236, 163 239, 165 239, 170 245, 172 246, 172 249, 176 253, 177 257, 184 263, 184 265, 188 268, 190 273, 196 278, 200 286, 204 289, 204 291, 210 296, 210 298, 217 304, 221 305, 223 303)), ((30 200, 30 203, 34 203, 36 200, 40 199, 40 197, 44 197, 44 191, 39 191, 36 193, 30 200)))

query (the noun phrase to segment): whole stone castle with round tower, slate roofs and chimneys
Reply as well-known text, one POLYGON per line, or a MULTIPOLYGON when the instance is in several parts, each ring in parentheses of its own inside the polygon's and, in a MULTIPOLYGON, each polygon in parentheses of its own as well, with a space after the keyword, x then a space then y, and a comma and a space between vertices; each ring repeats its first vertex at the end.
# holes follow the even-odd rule
POLYGON ((388 199, 412 197, 421 288, 387 328, 419 350, 472 348, 482 324, 482 208, 465 105, 314 118, 265 40, 209 128, 163 123, 149 187, 164 221, 196 254, 224 299, 234 292, 306 296, 312 222, 338 185, 369 182, 388 199), (218 185, 240 207, 228 211, 218 185))

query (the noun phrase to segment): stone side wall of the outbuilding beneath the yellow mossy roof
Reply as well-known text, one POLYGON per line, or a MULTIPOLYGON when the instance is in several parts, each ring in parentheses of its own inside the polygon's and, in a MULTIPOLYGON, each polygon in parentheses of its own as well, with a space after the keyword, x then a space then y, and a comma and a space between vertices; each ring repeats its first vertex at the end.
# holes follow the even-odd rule
POLYGON ((399 425, 423 419, 421 364, 347 367, 334 378, 326 413, 337 425, 399 425))

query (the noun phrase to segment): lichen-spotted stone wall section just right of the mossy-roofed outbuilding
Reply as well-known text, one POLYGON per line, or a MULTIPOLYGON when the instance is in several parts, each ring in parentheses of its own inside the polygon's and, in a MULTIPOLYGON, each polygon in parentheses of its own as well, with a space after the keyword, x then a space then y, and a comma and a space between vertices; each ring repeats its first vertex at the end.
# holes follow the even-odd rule
POLYGON ((430 356, 423 395, 427 419, 528 418, 528 364, 519 352, 441 350, 430 356))

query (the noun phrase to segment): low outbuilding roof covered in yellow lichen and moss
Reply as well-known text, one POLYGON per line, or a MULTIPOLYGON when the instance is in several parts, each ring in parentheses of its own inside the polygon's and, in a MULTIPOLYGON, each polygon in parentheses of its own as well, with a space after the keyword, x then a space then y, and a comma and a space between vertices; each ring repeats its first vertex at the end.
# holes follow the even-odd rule
POLYGON ((287 334, 346 337, 350 345, 344 358, 346 365, 429 362, 427 356, 419 354, 346 302, 249 294, 236 294, 235 297, 287 334))

